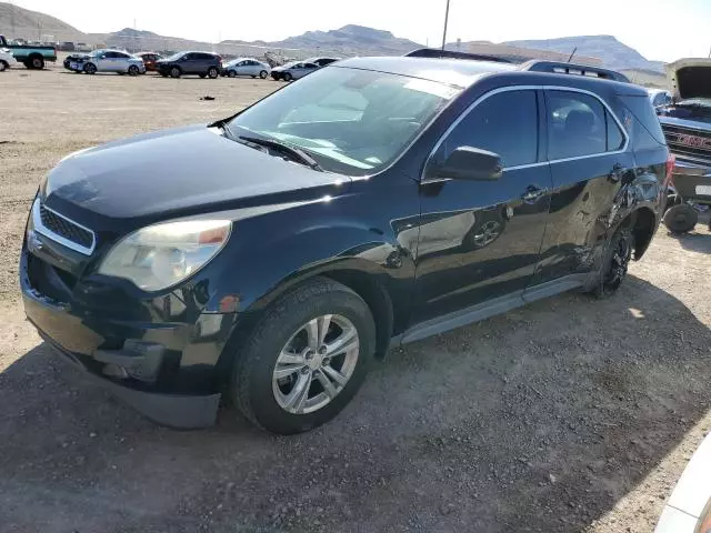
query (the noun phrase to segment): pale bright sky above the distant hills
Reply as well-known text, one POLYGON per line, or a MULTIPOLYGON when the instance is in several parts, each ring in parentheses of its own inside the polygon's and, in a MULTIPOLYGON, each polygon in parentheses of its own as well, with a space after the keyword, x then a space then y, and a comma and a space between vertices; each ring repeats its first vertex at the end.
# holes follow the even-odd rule
MULTIPOLYGON (((445 0, 12 0, 87 32, 124 27, 209 42, 279 40, 347 23, 431 46, 442 38, 445 0), (181 6, 186 6, 182 8, 181 6)), ((707 57, 711 0, 451 0, 448 40, 493 42, 613 34, 647 59, 707 57)))

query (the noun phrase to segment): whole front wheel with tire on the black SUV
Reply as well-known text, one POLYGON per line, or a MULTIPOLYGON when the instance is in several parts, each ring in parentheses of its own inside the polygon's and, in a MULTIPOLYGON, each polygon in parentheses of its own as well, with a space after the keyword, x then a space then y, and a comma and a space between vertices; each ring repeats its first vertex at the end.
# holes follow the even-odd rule
POLYGON ((309 431, 351 401, 374 349, 368 304, 346 285, 313 279, 272 304, 236 351, 232 400, 267 431, 309 431))

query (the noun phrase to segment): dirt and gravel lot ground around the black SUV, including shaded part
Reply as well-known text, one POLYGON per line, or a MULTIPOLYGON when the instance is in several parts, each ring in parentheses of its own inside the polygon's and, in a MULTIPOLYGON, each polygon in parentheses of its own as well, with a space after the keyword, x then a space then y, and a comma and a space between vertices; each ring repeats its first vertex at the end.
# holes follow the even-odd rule
POLYGON ((652 531, 711 428, 702 225, 660 230, 610 300, 567 294, 393 351, 336 421, 293 438, 230 409, 210 430, 159 428, 40 342, 17 283, 40 178, 274 87, 0 74, 0 531, 652 531))

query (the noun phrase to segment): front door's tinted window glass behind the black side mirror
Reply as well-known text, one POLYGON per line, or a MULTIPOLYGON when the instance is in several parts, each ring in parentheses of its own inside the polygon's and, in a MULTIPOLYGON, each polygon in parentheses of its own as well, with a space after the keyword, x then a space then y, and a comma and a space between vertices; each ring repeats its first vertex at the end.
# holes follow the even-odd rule
POLYGON ((504 167, 537 162, 535 91, 500 92, 479 103, 447 138, 443 158, 459 147, 498 153, 504 167))

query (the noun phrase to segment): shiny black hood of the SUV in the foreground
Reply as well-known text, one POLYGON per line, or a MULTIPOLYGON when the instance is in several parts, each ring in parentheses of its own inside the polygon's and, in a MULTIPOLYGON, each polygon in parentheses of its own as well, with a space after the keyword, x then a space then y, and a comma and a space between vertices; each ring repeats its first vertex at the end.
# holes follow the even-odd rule
POLYGON ((280 194, 344 181, 226 139, 217 128, 193 125, 77 152, 50 172, 41 192, 49 208, 110 229, 107 219, 140 225, 254 205, 257 197, 281 203, 280 194))

